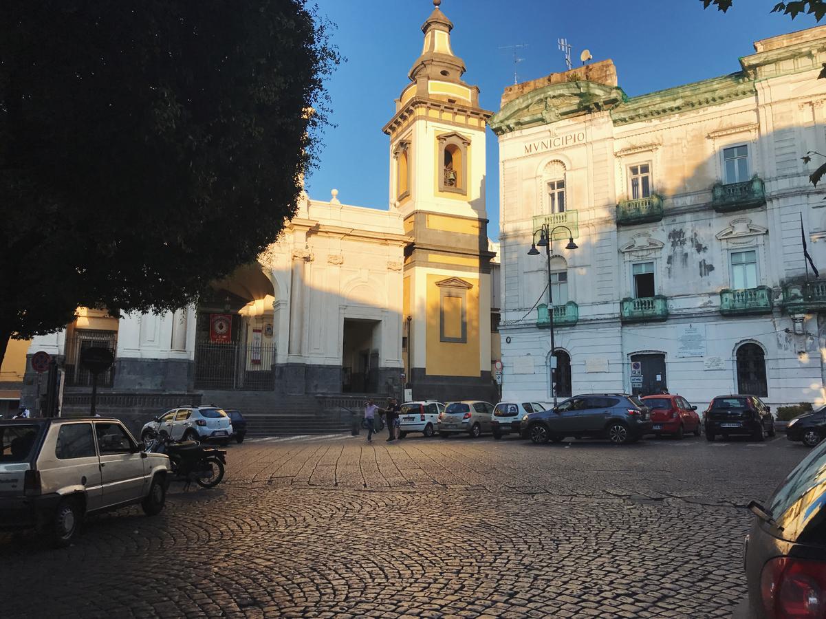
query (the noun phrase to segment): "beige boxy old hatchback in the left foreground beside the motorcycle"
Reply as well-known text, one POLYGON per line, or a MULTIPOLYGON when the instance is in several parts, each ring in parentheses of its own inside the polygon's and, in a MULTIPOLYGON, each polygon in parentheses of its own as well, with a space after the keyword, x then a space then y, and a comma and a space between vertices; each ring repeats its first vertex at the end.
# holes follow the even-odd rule
POLYGON ((0 421, 0 530, 37 528, 69 545, 83 517, 140 504, 164 509, 169 458, 141 453, 121 421, 0 421))

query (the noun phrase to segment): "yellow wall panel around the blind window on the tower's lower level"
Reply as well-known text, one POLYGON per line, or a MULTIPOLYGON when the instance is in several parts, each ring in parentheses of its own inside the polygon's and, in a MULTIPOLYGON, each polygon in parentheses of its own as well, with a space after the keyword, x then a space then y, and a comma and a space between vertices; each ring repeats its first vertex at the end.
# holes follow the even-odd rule
MULTIPOLYGON (((458 344, 443 342, 439 334, 440 288, 436 285, 444 275, 427 276, 427 364, 426 372, 437 376, 473 376, 478 377, 479 368, 479 280, 461 279, 471 283, 468 289, 466 317, 468 321, 468 343, 458 344)), ((486 334, 486 337, 488 334, 486 334)), ((488 369, 485 368, 485 371, 488 369)))

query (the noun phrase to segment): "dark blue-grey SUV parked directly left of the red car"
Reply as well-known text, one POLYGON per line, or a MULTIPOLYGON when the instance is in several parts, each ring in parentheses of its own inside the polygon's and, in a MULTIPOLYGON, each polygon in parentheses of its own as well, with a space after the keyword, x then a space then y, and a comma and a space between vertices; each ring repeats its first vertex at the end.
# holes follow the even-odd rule
POLYGON ((616 445, 639 440, 651 433, 648 407, 626 393, 591 393, 574 396, 548 411, 522 417, 523 438, 536 444, 558 443, 567 436, 607 438, 616 445))

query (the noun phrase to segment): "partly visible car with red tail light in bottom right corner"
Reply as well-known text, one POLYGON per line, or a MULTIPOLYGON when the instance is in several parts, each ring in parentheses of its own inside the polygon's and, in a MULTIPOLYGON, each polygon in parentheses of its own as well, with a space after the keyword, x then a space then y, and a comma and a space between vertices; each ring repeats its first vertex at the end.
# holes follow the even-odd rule
POLYGON ((748 507, 748 617, 826 617, 826 443, 748 507))

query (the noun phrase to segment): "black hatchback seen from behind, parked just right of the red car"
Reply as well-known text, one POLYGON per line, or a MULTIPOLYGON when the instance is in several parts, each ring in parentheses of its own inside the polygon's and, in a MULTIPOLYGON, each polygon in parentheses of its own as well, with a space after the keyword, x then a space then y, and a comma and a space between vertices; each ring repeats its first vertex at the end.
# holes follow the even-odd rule
POLYGON ((774 417, 771 408, 757 396, 717 396, 705 411, 705 438, 714 440, 722 436, 748 435, 754 440, 766 440, 775 436, 774 417))

